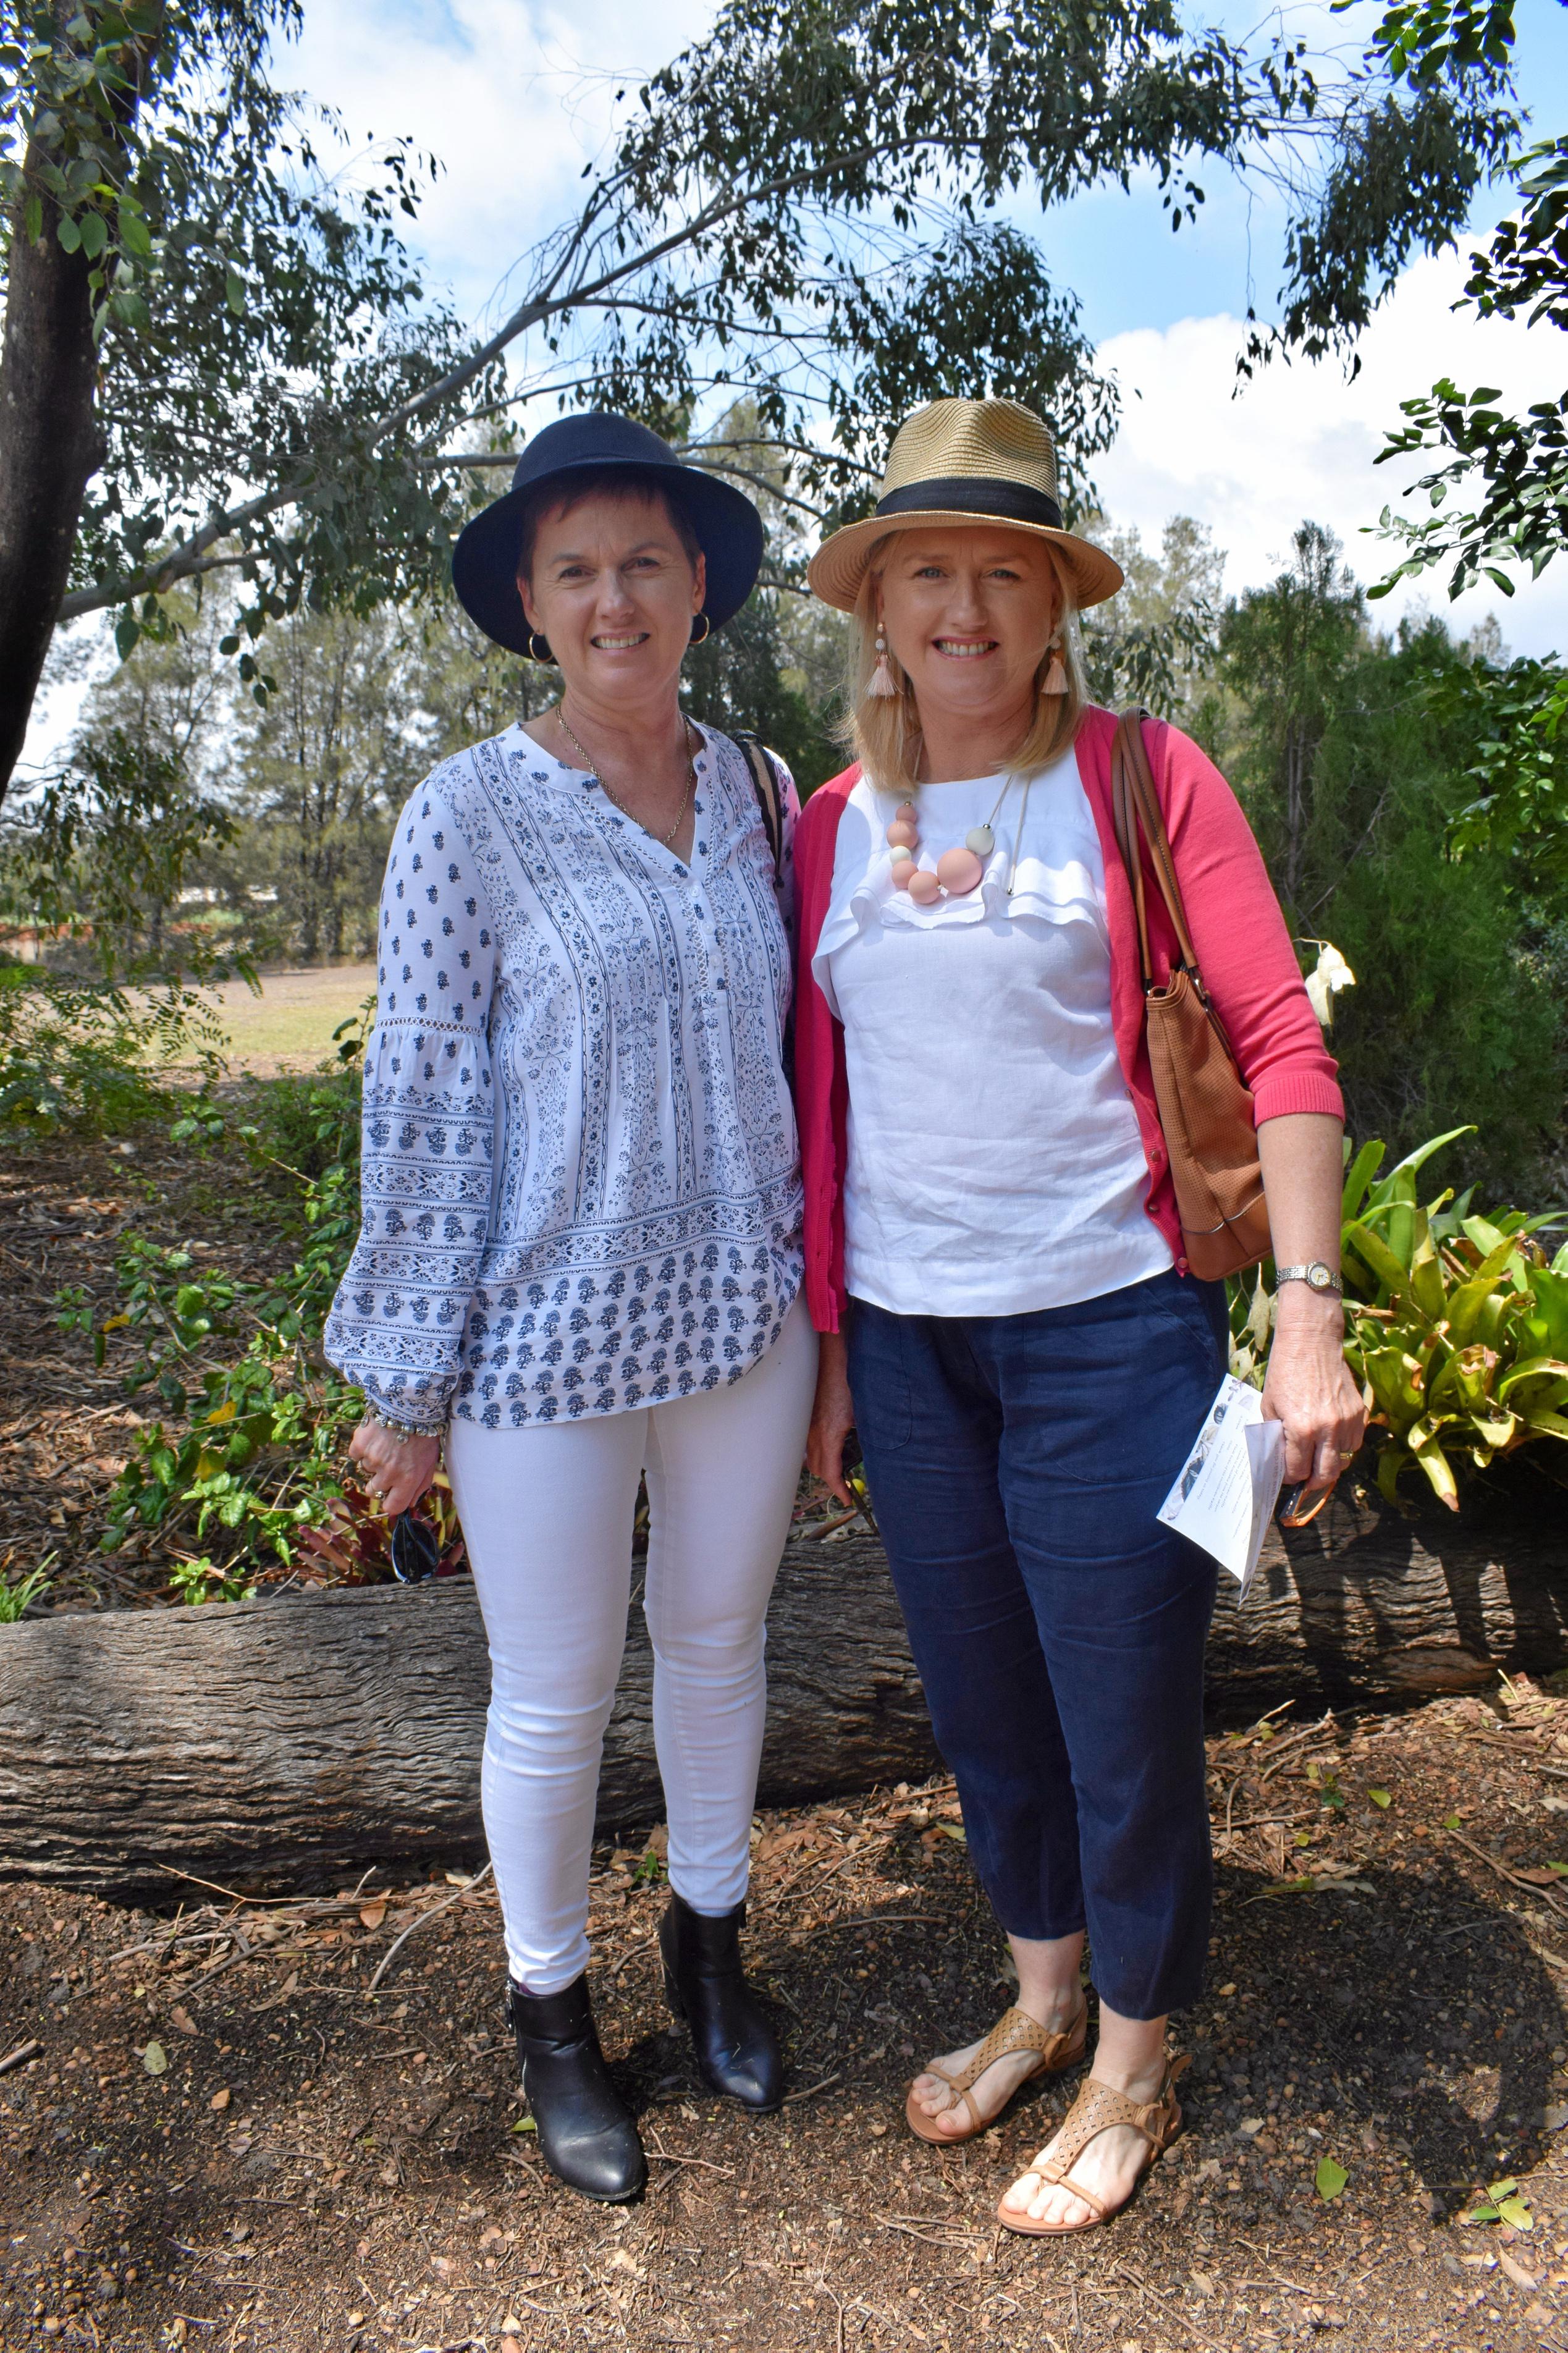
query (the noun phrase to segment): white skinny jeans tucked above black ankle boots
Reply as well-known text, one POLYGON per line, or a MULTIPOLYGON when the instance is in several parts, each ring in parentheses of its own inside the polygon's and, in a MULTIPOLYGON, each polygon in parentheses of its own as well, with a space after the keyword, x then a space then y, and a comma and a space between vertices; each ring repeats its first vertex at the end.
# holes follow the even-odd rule
POLYGON ((669 1880, 709 1915, 746 1894, 765 1614, 815 1384, 817 1334, 796 1299, 768 1355, 730 1388, 603 1421, 447 1428, 490 1638, 485 1838, 511 1974, 530 1993, 558 1993, 589 1962, 589 1852, 626 1647, 638 1473, 669 1880))

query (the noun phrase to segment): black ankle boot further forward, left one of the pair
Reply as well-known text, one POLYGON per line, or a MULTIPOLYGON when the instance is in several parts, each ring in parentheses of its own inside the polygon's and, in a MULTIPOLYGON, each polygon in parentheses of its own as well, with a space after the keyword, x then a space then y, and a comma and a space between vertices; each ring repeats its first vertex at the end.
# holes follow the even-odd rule
POLYGON ((589 1979, 560 1993, 511 1986, 523 2092, 539 2127, 539 2155, 584 2198, 624 2205, 647 2186, 647 2162, 631 2113, 610 2082, 598 2047, 589 1979))

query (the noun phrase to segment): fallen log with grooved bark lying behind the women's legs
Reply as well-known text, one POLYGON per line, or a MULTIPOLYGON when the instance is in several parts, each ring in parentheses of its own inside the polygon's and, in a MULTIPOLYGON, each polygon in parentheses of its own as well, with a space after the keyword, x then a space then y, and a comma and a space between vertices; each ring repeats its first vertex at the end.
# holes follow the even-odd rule
MULTIPOLYGON (((1559 1494, 1554 1489, 1552 1494, 1559 1494)), ((1561 1506, 1455 1518, 1356 1487, 1222 1579, 1217 1722, 1479 1689, 1568 1664, 1561 1506)), ((791 1544, 770 1614, 763 1802, 916 1779, 935 1755, 873 1537, 791 1544)), ((0 1626, 0 1878, 113 1897, 320 1885, 480 1849, 485 1635, 466 1579, 0 1626)), ((652 1659, 633 1607, 600 1821, 657 1821, 652 1659)))

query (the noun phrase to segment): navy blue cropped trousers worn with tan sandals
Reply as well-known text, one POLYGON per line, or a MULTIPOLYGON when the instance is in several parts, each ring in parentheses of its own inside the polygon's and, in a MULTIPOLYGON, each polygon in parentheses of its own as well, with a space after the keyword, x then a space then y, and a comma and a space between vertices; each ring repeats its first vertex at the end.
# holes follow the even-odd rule
POLYGON ((968 1852, 1012 1937, 1088 1927, 1121 2017, 1196 2000, 1215 1562, 1156 1518, 1227 1367, 1224 1287, 1034 1315, 850 1301, 850 1388, 968 1852))

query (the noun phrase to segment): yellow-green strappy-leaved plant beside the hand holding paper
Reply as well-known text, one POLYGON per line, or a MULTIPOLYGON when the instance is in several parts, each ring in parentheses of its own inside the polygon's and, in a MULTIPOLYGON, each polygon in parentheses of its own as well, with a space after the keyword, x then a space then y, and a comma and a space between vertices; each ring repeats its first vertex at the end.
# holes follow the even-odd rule
MULTIPOLYGON (((1481 1217, 1474 1186, 1422 1205, 1420 1169, 1464 1134, 1431 1136, 1387 1176, 1387 1146, 1363 1144, 1344 1176, 1340 1242, 1344 1355, 1373 1428, 1387 1433, 1377 1487, 1396 1501, 1415 1464, 1450 1511, 1464 1461, 1486 1471, 1535 1440, 1568 1440, 1568 1245, 1547 1257, 1537 1240, 1563 1217, 1481 1217)), ((1271 1273, 1231 1289, 1231 1367, 1243 1379, 1262 1381, 1271 1273)))

